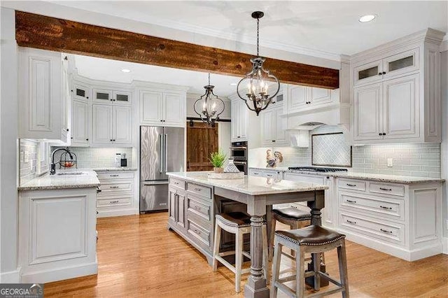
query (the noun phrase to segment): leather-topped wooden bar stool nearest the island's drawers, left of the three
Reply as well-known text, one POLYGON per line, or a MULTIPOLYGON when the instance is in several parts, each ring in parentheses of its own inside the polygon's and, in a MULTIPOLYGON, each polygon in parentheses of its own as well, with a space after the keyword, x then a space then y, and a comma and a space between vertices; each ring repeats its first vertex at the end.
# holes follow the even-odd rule
MULTIPOLYGON (((218 261, 224 264, 225 267, 228 267, 230 271, 235 274, 235 291, 241 291, 241 274, 246 274, 251 271, 248 269, 241 269, 243 264, 243 255, 251 258, 246 251, 243 250, 244 241, 243 235, 251 233, 251 217, 246 213, 242 212, 230 212, 223 213, 221 215, 216 215, 216 225, 215 225, 215 240, 214 240, 214 260, 213 260, 213 271, 218 269, 218 261), (219 252, 219 246, 221 242, 221 229, 235 234, 235 250, 226 251, 223 253, 219 252), (235 267, 232 266, 229 262, 223 259, 223 257, 227 255, 235 255, 235 267)), ((263 271, 265 274, 266 281, 268 281, 267 277, 267 265, 268 257, 267 257, 267 229, 266 222, 263 222, 262 226, 262 242, 263 242, 263 271)))

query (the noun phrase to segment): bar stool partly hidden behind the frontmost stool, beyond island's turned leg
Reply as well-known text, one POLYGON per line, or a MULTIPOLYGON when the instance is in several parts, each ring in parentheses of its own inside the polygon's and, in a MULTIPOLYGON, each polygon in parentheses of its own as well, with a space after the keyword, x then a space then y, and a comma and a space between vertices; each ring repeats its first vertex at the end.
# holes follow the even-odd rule
POLYGON ((300 229, 311 225, 311 213, 302 211, 294 207, 277 208, 271 211, 271 233, 269 235, 269 261, 272 260, 274 254, 274 232, 276 222, 288 225, 290 229, 300 229))

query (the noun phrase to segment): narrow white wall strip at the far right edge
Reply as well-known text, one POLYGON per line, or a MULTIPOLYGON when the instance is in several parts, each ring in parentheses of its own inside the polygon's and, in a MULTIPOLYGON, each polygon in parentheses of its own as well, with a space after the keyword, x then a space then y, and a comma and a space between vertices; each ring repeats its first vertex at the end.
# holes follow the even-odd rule
MULTIPOLYGON (((442 178, 448 179, 448 41, 444 42, 443 52, 440 55, 440 86, 441 86, 441 101, 442 101, 442 145, 441 160, 442 160, 442 178)), ((444 253, 448 253, 448 182, 444 183, 443 192, 443 236, 444 239, 444 253)))

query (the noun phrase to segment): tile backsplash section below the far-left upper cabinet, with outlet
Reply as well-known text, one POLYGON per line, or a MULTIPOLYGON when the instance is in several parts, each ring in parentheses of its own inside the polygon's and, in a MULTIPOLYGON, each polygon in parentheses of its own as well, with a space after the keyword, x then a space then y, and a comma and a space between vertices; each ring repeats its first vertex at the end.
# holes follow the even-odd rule
POLYGON ((20 139, 20 174, 19 183, 27 183, 38 176, 37 159, 38 159, 38 145, 37 141, 20 139))

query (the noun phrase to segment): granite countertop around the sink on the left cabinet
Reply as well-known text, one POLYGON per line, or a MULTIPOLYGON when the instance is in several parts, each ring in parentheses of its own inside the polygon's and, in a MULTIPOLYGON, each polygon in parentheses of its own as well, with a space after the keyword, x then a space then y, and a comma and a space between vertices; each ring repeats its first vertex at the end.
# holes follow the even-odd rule
POLYGON ((80 175, 50 175, 34 178, 20 185, 18 190, 63 190, 67 188, 97 187, 100 185, 95 171, 82 171, 80 175))

